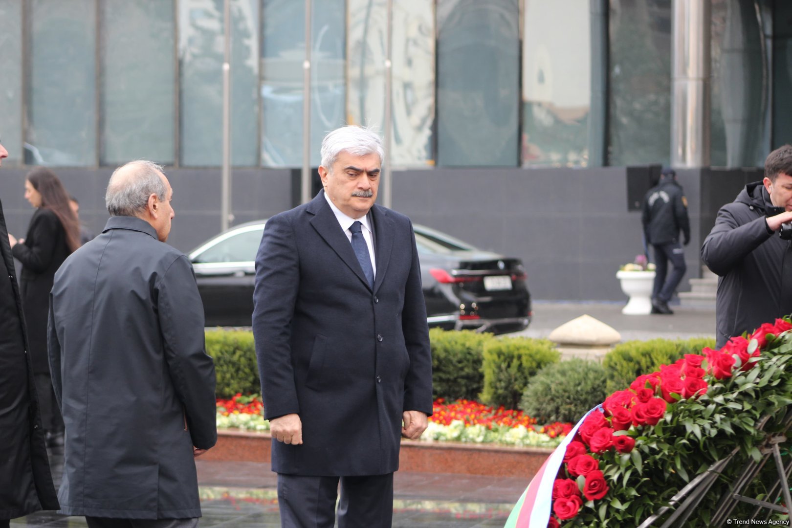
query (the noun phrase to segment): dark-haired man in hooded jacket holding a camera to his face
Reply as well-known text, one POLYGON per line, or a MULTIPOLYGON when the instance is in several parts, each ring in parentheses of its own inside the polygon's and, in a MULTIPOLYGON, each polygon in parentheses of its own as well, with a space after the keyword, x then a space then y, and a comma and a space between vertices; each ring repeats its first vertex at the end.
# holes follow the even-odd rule
POLYGON ((792 313, 792 145, 773 150, 764 179, 718 211, 701 248, 718 274, 717 347, 792 313), (785 226, 786 224, 786 226, 785 226), (779 235, 775 235, 779 232, 779 235))

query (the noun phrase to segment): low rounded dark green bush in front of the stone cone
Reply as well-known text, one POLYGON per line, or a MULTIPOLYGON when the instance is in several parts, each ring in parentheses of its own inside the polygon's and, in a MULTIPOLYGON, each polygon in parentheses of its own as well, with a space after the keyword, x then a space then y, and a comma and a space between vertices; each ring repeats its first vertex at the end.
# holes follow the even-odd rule
POLYGON ((520 408, 540 424, 576 423, 608 393, 605 368, 596 361, 569 359, 539 370, 528 382, 520 408))

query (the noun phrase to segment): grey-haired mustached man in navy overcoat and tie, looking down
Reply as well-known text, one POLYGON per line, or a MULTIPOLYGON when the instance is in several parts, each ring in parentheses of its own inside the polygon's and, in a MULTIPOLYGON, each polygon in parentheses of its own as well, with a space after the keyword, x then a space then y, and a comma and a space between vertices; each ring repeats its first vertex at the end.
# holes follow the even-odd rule
POLYGON ((362 127, 322 142, 324 189, 270 218, 253 335, 281 526, 391 525, 400 437, 432 413, 413 226, 375 204, 383 146, 362 127))

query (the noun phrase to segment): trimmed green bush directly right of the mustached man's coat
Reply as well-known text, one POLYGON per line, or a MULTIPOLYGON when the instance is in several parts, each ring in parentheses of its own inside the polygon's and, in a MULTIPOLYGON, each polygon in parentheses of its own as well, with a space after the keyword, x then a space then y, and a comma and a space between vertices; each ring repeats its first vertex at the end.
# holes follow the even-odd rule
POLYGON ((493 339, 492 334, 472 330, 429 330, 432 397, 448 401, 478 400, 484 382, 484 345, 493 339))

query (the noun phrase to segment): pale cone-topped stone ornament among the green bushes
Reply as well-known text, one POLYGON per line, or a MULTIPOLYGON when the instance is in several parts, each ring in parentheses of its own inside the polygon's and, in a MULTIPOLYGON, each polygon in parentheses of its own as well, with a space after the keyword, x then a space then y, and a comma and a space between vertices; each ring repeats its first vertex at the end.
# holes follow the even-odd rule
POLYGON ((584 314, 554 329, 547 339, 557 345, 562 359, 599 361, 622 340, 622 335, 604 322, 584 314))

